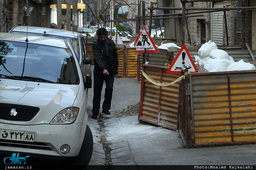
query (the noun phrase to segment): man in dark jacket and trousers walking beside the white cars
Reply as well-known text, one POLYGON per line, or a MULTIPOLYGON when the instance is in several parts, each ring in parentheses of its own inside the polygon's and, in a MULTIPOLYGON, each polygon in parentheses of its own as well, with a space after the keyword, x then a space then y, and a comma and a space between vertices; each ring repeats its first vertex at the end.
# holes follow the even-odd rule
POLYGON ((93 101, 92 101, 92 118, 97 119, 100 111, 100 98, 101 91, 103 87, 103 82, 106 83, 105 96, 102 104, 102 113, 110 115, 109 109, 111 107, 114 76, 118 75, 118 72, 115 75, 109 75, 108 70, 105 68, 101 57, 108 55, 109 57, 115 60, 115 68, 118 70, 118 58, 116 45, 113 40, 107 37, 107 30, 105 28, 100 28, 97 30, 96 35, 98 39, 92 43, 92 51, 94 55, 94 85, 93 85, 93 101))

